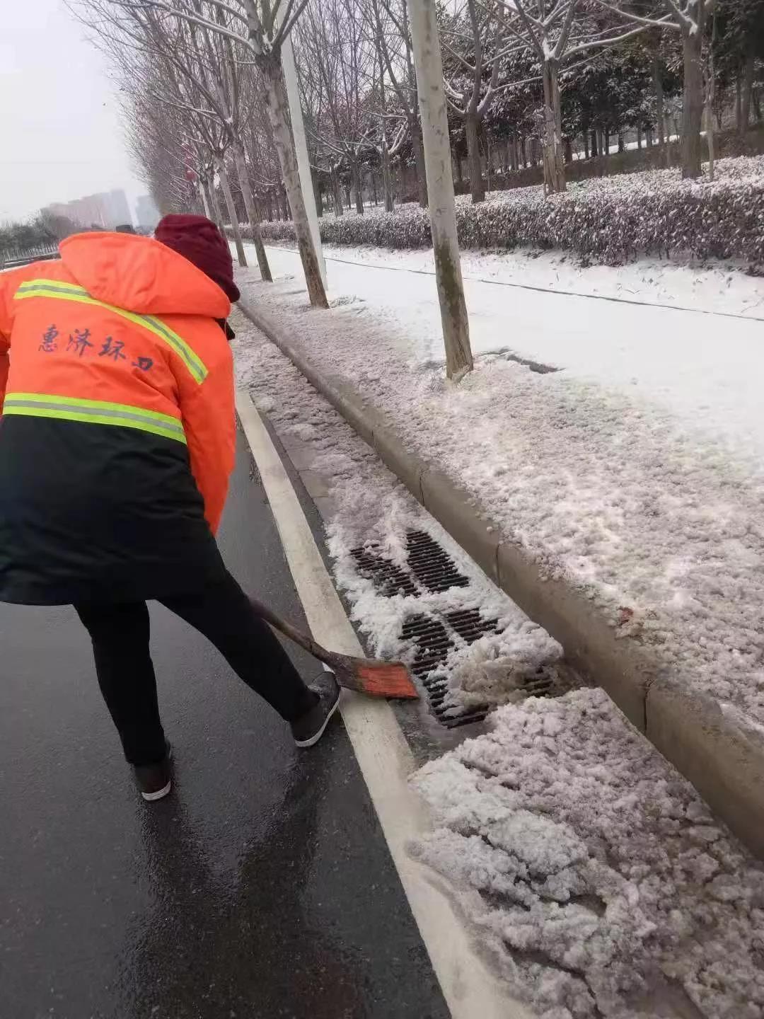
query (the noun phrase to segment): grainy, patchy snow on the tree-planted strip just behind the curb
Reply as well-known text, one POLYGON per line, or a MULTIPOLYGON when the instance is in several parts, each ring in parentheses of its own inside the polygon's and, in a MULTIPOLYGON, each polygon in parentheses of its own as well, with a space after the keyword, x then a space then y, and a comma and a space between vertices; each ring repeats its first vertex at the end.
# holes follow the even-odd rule
MULTIPOLYGON (((475 496, 504 540, 522 545, 550 576, 564 577, 666 667, 764 721, 760 422, 757 431, 746 410, 747 442, 740 420, 725 436, 721 401, 712 414, 692 387, 679 416, 660 393, 647 398, 649 389, 574 371, 540 375, 500 356, 482 358, 451 386, 439 365, 408 354, 418 336, 431 342, 436 327, 425 331, 393 311, 400 275, 387 304, 342 297, 328 312, 309 308, 295 277, 268 285, 243 274, 241 285, 319 368, 381 408, 401 441, 475 496), (705 431, 693 427, 690 407, 705 431), (719 425, 719 437, 709 421, 719 425)), ((425 301, 434 287, 418 278, 425 301)), ((629 315, 640 323, 654 311, 630 308, 629 315)), ((516 318, 508 302, 504 321, 512 330, 516 318)), ((495 315, 492 322, 496 327, 495 315)), ((640 331, 651 336, 644 320, 640 331)), ((571 335, 571 346, 577 342, 584 342, 581 333, 571 335)), ((653 359, 671 357, 674 342, 681 336, 668 327, 663 354, 650 347, 653 359)), ((724 347, 734 347, 726 331, 724 347)), ((735 404, 748 408, 752 365, 748 374, 741 366, 728 376, 730 414, 735 404)), ((650 360, 644 367, 655 371, 650 360)), ((691 368, 688 374, 695 377, 691 368)))

